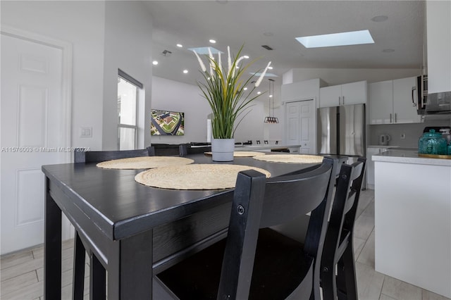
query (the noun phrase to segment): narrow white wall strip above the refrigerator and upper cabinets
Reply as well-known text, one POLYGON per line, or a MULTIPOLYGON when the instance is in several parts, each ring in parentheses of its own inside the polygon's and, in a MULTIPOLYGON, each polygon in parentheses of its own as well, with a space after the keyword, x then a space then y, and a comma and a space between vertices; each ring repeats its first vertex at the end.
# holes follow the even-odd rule
MULTIPOLYGON (((393 80, 421 75, 421 69, 328 69, 328 68, 294 68, 292 75, 283 77, 283 84, 321 78, 328 85, 366 80, 368 83, 393 80), (288 80, 292 79, 292 82, 288 80), (285 82, 286 80, 286 82, 285 82)), ((288 73, 290 74, 290 73, 288 73)))

